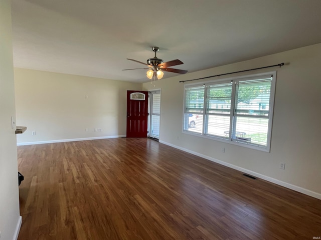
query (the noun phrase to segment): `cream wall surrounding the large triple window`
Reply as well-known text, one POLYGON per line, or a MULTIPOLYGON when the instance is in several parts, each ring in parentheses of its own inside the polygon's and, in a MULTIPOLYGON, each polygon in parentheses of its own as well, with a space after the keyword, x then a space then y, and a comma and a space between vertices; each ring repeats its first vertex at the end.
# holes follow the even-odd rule
MULTIPOLYGON (((321 43, 156 80, 155 87, 150 83, 144 83, 143 88, 144 90, 162 89, 161 142, 321 199, 320 62, 321 43), (233 74, 234 76, 248 75, 277 70, 269 153, 182 133, 184 83, 180 83, 180 80, 281 62, 285 63, 281 68, 233 74), (222 147, 225 147, 225 153, 221 152, 222 147), (286 163, 285 170, 279 168, 280 162, 286 163)), ((221 76, 220 79, 222 78, 221 76)))

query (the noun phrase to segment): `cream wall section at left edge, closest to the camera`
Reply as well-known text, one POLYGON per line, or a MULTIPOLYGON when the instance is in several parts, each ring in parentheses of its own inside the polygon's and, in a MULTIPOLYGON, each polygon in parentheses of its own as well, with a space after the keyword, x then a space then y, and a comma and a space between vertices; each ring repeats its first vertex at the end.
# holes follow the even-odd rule
POLYGON ((0 231, 15 239, 20 229, 18 162, 15 128, 15 89, 10 0, 0 1, 0 231))

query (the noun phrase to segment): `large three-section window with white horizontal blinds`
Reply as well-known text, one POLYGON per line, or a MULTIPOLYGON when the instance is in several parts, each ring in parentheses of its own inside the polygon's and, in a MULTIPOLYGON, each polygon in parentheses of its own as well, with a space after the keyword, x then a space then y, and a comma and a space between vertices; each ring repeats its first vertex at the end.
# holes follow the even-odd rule
POLYGON ((275 75, 186 85, 184 132, 269 151, 275 75))

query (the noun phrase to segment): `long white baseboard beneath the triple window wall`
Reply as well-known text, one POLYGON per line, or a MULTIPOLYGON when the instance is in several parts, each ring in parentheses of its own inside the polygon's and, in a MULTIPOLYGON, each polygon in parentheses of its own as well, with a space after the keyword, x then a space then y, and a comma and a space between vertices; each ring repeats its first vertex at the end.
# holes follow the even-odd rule
POLYGON ((321 193, 318 193, 318 192, 315 192, 315 191, 311 191, 311 190, 305 189, 303 187, 296 186, 296 185, 293 185, 291 183, 288 183, 288 182, 285 182, 285 181, 281 181, 281 180, 275 179, 273 177, 269 177, 269 176, 263 175, 261 173, 257 173, 255 171, 251 171, 249 169, 246 169, 246 168, 243 168, 243 167, 240 167, 240 166, 236 166, 236 165, 233 165, 233 164, 225 162, 225 161, 221 161, 221 160, 215 159, 213 157, 204 155, 204 154, 196 152, 196 151, 191 151, 189 149, 174 145, 174 144, 169 143, 169 142, 165 142, 165 141, 161 141, 161 140, 159 140, 159 142, 164 143, 164 144, 169 145, 169 146, 172 146, 174 148, 180 149, 182 151, 186 151, 186 152, 191 153, 193 155, 203 157, 203 158, 208 159, 210 161, 214 161, 214 162, 219 163, 221 165, 224 165, 224 166, 227 166, 227 167, 231 167, 231 168, 239 170, 241 172, 256 176, 256 177, 264 179, 266 181, 273 182, 275 184, 278 184, 280 186, 284 186, 284 187, 292 189, 294 191, 298 191, 298 192, 301 192, 303 194, 306 194, 306 195, 321 199, 321 193))

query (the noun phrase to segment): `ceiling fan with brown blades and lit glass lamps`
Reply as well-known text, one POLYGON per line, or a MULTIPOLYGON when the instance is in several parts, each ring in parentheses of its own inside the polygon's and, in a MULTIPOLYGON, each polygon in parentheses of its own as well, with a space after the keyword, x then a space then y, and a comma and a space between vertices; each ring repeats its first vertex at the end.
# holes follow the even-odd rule
POLYGON ((135 61, 141 64, 144 64, 148 67, 143 67, 143 68, 130 68, 130 69, 123 69, 123 70, 133 70, 133 69, 149 69, 146 72, 146 76, 151 79, 153 76, 157 76, 157 79, 161 79, 164 75, 163 71, 170 71, 170 72, 176 72, 176 73, 181 73, 185 74, 187 70, 181 70, 181 69, 176 69, 176 68, 170 68, 169 66, 175 66, 175 65, 180 65, 184 64, 183 61, 179 59, 175 59, 172 61, 166 61, 164 62, 163 59, 157 58, 156 52, 159 50, 158 46, 153 46, 152 50, 155 52, 155 56, 153 58, 148 58, 147 63, 137 61, 134 59, 126 58, 131 61, 135 61))

